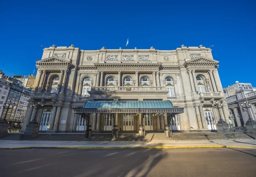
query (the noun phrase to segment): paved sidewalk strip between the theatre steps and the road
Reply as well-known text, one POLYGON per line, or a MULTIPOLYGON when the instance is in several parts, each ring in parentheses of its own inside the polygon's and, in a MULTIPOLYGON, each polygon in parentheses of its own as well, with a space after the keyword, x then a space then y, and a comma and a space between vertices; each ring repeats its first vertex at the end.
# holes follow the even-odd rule
POLYGON ((0 149, 67 148, 67 149, 124 149, 124 148, 256 148, 256 139, 198 140, 198 141, 27 141, 0 140, 0 149))

